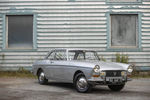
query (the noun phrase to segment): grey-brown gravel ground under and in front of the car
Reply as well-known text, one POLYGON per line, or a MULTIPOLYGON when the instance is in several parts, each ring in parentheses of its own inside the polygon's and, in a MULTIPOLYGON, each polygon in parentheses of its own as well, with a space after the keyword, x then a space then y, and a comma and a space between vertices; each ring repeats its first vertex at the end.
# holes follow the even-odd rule
POLYGON ((0 100, 150 100, 150 78, 133 79, 120 92, 99 85, 86 94, 67 83, 39 85, 37 79, 0 78, 0 100))

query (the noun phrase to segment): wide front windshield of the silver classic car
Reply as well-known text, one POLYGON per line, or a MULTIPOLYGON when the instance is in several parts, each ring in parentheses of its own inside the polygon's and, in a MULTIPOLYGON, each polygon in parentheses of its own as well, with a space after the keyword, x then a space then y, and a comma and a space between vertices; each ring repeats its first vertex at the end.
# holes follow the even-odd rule
POLYGON ((95 51, 71 50, 68 56, 70 60, 99 60, 95 51))

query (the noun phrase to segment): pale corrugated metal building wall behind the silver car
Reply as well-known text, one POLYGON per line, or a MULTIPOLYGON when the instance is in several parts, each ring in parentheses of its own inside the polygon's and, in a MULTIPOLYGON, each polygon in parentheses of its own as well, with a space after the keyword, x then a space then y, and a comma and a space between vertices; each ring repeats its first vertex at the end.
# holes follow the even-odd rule
POLYGON ((31 69, 33 61, 42 59, 47 51, 58 47, 97 49, 108 61, 120 52, 129 55, 130 63, 149 67, 150 0, 125 3, 109 0, 0 0, 1 69, 31 69), (139 49, 109 49, 111 13, 139 14, 139 49), (5 49, 5 16, 11 14, 34 15, 32 50, 5 49))

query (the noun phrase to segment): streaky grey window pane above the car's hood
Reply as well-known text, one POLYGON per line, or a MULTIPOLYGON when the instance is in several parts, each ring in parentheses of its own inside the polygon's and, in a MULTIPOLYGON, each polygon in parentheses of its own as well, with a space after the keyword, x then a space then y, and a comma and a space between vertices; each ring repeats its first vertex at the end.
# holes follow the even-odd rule
POLYGON ((111 47, 138 47, 138 15, 111 14, 111 47))

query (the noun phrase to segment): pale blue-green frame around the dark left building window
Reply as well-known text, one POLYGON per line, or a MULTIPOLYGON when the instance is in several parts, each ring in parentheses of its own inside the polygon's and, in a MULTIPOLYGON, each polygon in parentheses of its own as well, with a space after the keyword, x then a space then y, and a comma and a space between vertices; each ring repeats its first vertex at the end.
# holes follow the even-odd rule
POLYGON ((37 22, 36 22, 37 14, 33 13, 8 13, 3 15, 3 51, 35 51, 37 49, 37 22), (28 16, 31 15, 33 16, 33 39, 32 39, 32 47, 31 48, 9 48, 8 47, 8 16, 9 15, 14 15, 14 16, 28 16))

